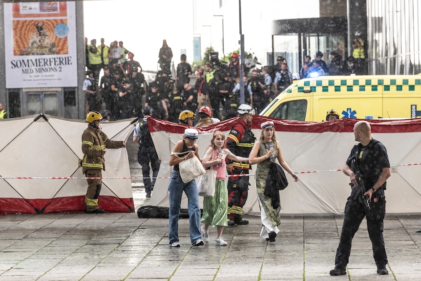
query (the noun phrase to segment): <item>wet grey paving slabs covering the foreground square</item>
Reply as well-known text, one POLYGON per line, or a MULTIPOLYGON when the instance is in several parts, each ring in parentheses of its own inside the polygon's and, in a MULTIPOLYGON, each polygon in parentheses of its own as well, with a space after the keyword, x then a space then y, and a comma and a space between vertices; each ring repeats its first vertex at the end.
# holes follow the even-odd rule
MULTIPOLYGON (((133 188, 136 210, 147 205, 133 188)), ((0 216, 0 281, 421 280, 420 216, 387 216, 389 275, 376 273, 365 220, 353 240, 347 275, 333 277, 342 216, 282 217, 271 243, 259 216, 224 230, 228 246, 191 247, 180 219, 180 248, 168 245, 168 219, 136 213, 0 216)))

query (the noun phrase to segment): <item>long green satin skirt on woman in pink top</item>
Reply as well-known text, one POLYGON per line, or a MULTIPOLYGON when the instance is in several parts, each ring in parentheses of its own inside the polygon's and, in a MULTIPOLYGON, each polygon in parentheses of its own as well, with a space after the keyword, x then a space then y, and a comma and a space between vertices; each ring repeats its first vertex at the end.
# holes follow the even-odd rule
POLYGON ((215 226, 227 226, 228 190, 225 180, 216 179, 215 194, 213 197, 203 198, 203 215, 201 222, 215 226))

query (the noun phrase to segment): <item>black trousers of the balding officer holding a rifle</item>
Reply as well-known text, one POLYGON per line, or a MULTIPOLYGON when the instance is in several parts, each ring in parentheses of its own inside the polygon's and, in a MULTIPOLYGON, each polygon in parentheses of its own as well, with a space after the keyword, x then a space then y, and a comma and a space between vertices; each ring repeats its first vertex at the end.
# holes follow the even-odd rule
POLYGON ((354 188, 351 196, 345 206, 345 217, 343 219, 342 232, 340 234, 339 246, 337 247, 335 266, 345 267, 348 264, 349 256, 351 254, 352 238, 358 231, 364 216, 367 219, 368 235, 371 240, 373 248, 373 257, 378 267, 383 267, 387 264, 387 255, 384 248, 383 239, 383 219, 386 209, 386 201, 383 191, 378 191, 374 195, 381 197, 379 202, 375 203, 372 197, 370 204, 371 211, 366 211, 362 200, 357 196, 358 189, 354 188))

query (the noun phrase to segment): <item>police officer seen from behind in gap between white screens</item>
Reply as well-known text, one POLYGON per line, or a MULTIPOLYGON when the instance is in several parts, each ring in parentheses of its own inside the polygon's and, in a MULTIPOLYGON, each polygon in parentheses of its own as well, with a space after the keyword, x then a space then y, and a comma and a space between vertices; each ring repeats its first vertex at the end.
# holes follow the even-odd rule
POLYGON ((139 151, 137 153, 137 161, 142 166, 143 184, 145 185, 146 197, 150 198, 150 194, 155 186, 156 177, 159 172, 161 160, 158 158, 155 146, 147 127, 147 118, 153 114, 153 108, 145 107, 142 109, 143 119, 136 125, 133 132, 133 142, 139 142, 139 151), (149 163, 152 167, 152 180, 150 180, 149 163))

